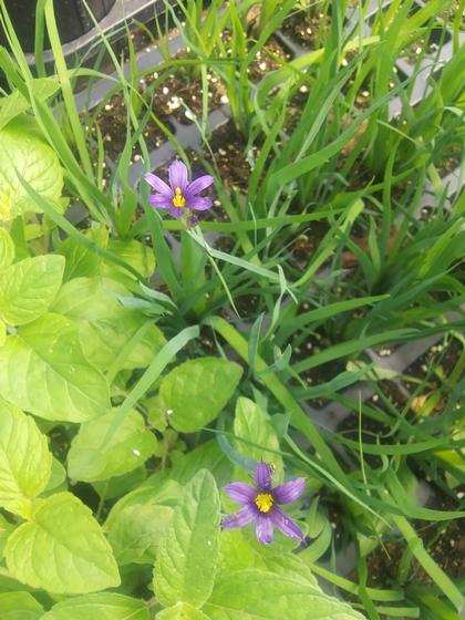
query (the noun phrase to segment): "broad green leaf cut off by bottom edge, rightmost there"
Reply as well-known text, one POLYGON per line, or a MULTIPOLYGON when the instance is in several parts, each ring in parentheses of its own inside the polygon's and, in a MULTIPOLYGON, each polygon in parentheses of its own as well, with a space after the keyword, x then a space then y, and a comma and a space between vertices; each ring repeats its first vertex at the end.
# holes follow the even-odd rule
POLYGON ((256 569, 219 579, 203 611, 210 620, 363 620, 349 604, 293 575, 256 569))

